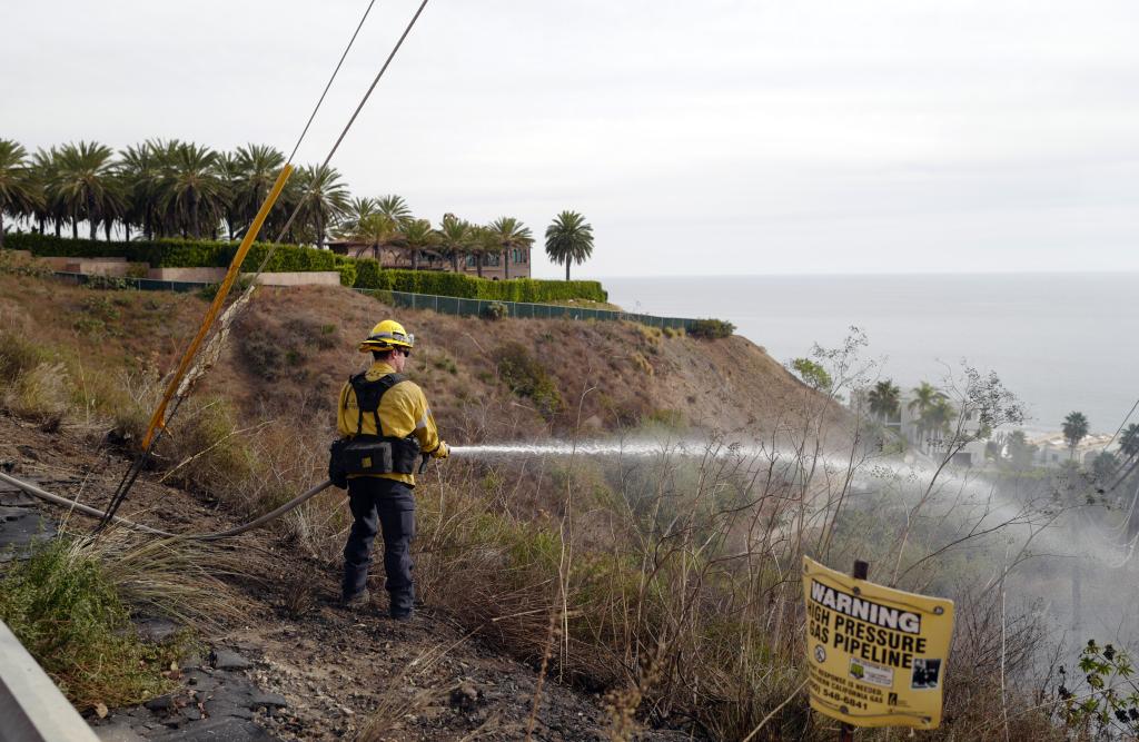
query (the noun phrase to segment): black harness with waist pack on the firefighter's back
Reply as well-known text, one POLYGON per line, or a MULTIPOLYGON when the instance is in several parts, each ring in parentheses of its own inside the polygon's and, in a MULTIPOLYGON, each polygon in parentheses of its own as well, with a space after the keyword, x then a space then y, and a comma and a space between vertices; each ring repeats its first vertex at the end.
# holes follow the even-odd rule
POLYGON ((368 381, 367 372, 349 378, 357 398, 357 434, 350 439, 333 441, 329 449, 328 476, 334 484, 347 486, 350 474, 413 474, 419 463, 419 441, 415 435, 396 438, 384 435, 379 418, 379 402, 392 389, 407 376, 387 374, 375 381, 368 381), (376 435, 363 432, 363 415, 371 413, 376 421, 376 435))

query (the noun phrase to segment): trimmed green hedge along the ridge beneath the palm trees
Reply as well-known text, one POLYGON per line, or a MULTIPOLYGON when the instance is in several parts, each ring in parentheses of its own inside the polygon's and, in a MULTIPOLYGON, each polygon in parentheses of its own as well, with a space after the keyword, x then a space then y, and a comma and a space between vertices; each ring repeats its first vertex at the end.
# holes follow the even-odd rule
MULTIPOLYGON (((52 235, 9 234, 5 247, 27 250, 33 255, 62 258, 125 258, 131 262, 149 263, 151 268, 226 267, 237 252, 237 243, 204 239, 155 239, 134 242, 100 242, 71 239, 52 235)), ((255 243, 241 264, 245 271, 256 270, 272 245, 255 243)), ((538 280, 511 278, 487 280, 464 274, 426 270, 382 270, 371 258, 352 259, 326 250, 277 245, 265 266, 271 272, 336 270, 341 283, 357 288, 402 291, 412 294, 435 294, 462 299, 490 299, 538 303, 588 299, 606 301, 608 295, 596 280, 538 280)))

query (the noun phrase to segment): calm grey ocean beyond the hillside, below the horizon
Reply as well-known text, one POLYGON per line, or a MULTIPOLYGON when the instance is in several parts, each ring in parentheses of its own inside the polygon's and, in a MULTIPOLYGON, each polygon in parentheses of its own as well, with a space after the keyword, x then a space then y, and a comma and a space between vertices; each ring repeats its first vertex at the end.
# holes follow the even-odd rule
MULTIPOLYGON (((1032 431, 1080 410, 1114 433, 1139 398, 1139 274, 819 275, 603 278, 629 311, 727 319, 776 360, 841 345, 903 390, 937 384, 962 359, 995 372, 1032 431)), ((1139 413, 1131 422, 1139 422, 1139 413)))

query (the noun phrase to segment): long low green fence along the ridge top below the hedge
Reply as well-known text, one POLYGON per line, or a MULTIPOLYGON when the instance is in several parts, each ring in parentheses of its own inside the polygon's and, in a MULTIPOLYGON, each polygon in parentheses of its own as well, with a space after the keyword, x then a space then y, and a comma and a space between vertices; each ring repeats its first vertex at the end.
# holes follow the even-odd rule
MULTIPOLYGON (((97 276, 91 274, 73 274, 67 271, 55 271, 57 278, 62 278, 76 285, 100 284, 107 287, 134 288, 137 291, 173 291, 190 292, 213 286, 207 282, 196 280, 165 280, 161 278, 134 278, 117 276, 97 276)), ((589 309, 587 307, 562 307, 559 304, 538 304, 533 302, 503 301, 501 299, 468 299, 466 296, 441 296, 437 294, 416 294, 405 291, 390 291, 386 288, 352 288, 372 299, 391 299, 394 305, 407 309, 429 309, 443 315, 458 315, 462 317, 481 317, 490 304, 501 304, 507 308, 508 316, 515 319, 599 319, 604 321, 628 320, 649 327, 671 327, 673 329, 687 331, 693 323, 697 321, 685 317, 657 317, 656 315, 642 315, 637 312, 618 312, 612 309, 589 309)))

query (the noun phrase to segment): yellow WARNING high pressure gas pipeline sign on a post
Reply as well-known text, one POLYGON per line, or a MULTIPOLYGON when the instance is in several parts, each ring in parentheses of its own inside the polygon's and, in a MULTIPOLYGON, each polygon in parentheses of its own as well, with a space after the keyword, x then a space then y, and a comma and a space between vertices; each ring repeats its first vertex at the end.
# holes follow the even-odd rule
POLYGON ((803 557, 811 708, 855 726, 941 724, 953 602, 803 557))

